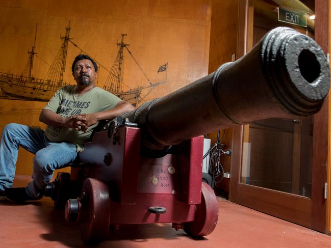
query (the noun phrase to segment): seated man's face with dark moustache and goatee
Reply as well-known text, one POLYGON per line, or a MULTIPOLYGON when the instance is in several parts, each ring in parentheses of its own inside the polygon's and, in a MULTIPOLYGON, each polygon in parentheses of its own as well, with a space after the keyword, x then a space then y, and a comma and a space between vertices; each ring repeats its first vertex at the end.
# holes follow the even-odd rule
POLYGON ((73 78, 77 84, 82 86, 89 86, 94 84, 97 72, 90 60, 79 60, 74 65, 73 78))

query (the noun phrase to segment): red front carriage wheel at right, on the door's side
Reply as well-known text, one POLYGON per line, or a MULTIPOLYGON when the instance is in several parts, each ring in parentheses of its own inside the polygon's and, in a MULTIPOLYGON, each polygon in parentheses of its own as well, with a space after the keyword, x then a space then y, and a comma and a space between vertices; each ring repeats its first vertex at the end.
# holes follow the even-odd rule
POLYGON ((201 203, 196 205, 194 221, 184 225, 184 231, 193 237, 207 236, 216 227, 218 204, 213 189, 205 182, 201 187, 201 203))

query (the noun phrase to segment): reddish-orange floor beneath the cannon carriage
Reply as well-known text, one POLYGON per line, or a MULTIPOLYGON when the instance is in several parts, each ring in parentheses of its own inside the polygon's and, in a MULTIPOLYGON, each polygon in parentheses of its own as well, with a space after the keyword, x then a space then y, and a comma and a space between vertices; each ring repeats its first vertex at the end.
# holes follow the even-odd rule
MULTIPOLYGON (((28 176, 16 176, 25 186, 28 176)), ((331 247, 331 236, 222 199, 215 231, 193 239, 171 224, 122 226, 98 247, 331 247)), ((53 202, 0 202, 0 247, 84 247, 76 224, 66 223, 53 202)))

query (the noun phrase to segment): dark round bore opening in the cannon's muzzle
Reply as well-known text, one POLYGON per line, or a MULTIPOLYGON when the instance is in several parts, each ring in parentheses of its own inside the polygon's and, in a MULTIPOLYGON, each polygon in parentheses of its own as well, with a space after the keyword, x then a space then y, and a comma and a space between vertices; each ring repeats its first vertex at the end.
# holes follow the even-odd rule
POLYGON ((321 66, 315 54, 307 49, 300 52, 298 63, 301 75, 309 83, 315 81, 321 73, 321 66))

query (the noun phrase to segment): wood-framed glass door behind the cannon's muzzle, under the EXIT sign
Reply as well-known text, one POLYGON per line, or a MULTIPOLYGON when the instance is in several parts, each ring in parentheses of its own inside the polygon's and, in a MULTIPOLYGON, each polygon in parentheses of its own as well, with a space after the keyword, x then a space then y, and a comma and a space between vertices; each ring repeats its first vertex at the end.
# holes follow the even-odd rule
MULTIPOLYGON (((238 57, 273 27, 287 25, 277 20, 276 2, 279 1, 239 1, 238 57)), ((327 1, 315 1, 316 16, 319 13, 321 18, 315 32, 314 28, 290 27, 318 42, 324 35, 323 25, 327 27, 328 18, 322 18, 323 13, 327 14, 325 4, 328 6, 327 1)), ((236 126, 230 200, 324 232, 327 118, 325 103, 313 117, 274 118, 236 126)))

